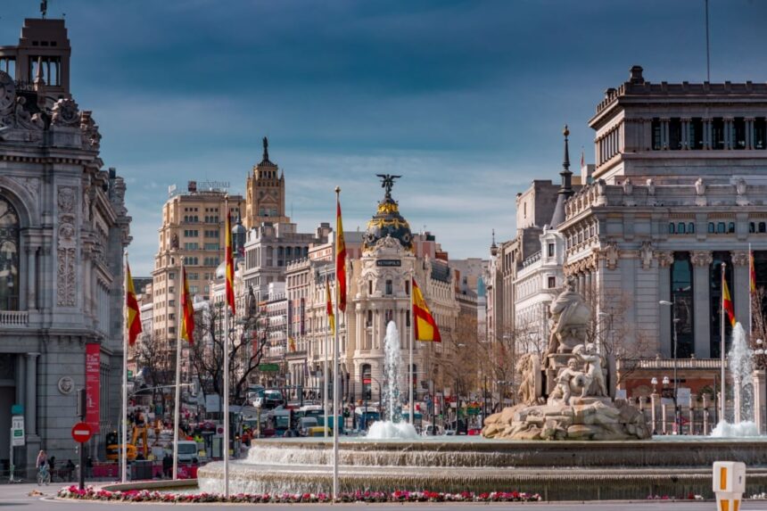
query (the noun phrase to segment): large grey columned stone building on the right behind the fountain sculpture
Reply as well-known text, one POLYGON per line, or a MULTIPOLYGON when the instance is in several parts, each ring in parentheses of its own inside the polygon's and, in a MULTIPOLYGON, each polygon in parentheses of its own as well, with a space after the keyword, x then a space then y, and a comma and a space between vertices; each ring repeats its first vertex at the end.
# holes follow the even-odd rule
MULTIPOLYGON (((678 386, 713 395, 722 385, 722 264, 746 331, 749 250, 757 287, 767 285, 767 86, 656 84, 634 66, 589 124, 592 182, 565 202, 557 226, 564 276, 594 297, 603 349, 618 357, 629 397, 653 392, 651 378, 673 367, 678 386)), ((506 254, 491 250, 503 268, 506 254)), ((730 333, 728 321, 725 350, 730 333)))

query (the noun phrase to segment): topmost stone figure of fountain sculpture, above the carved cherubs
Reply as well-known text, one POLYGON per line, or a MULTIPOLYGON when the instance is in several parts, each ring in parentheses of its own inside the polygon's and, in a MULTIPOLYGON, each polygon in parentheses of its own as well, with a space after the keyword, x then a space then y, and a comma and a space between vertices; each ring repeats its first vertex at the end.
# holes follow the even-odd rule
POLYGON ((548 310, 551 313, 551 329, 544 361, 552 353, 566 353, 585 342, 586 326, 591 317, 591 309, 581 294, 575 291, 572 277, 567 279, 565 291, 551 302, 548 310))

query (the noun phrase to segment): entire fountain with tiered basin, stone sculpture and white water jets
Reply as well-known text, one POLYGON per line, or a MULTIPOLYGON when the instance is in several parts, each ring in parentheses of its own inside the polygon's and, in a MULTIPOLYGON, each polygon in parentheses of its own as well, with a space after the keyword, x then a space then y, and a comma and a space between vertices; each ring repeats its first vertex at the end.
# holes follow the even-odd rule
MULTIPOLYGON (((711 497, 711 466, 722 459, 748 465, 749 494, 767 490, 763 437, 647 440, 644 418, 614 399, 613 362, 583 342, 583 305, 572 288, 554 301, 546 367, 536 356, 520 359, 524 404, 487 417, 485 437, 416 437, 413 426, 401 421, 402 352, 390 323, 384 343, 386 420, 373 424, 367 437, 340 439, 340 490, 521 490, 547 500, 711 497)), ((739 360, 739 340, 733 350, 739 360)), ((738 381, 748 384, 746 377, 738 381)), ((739 399, 746 394, 738 391, 739 399)), ((253 441, 246 459, 230 463, 229 488, 235 494, 328 493, 332 452, 333 442, 323 438, 253 441)), ((223 477, 222 462, 200 467, 196 491, 220 493, 223 477)))

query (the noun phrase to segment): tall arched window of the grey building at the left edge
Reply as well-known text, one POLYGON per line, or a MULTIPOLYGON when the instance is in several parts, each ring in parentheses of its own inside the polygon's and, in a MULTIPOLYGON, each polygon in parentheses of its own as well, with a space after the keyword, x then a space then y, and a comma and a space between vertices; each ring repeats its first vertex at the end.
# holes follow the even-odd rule
POLYGON ((0 196, 0 310, 19 310, 19 214, 0 196))

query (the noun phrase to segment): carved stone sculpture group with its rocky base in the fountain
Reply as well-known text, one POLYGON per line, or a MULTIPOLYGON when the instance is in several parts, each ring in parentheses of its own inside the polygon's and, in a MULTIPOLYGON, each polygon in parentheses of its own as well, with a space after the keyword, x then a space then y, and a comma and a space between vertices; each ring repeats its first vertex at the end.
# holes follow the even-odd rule
POLYGON ((486 438, 515 440, 643 440, 651 430, 626 400, 615 400, 615 364, 586 342, 589 306, 573 280, 551 302, 548 349, 525 353, 521 404, 485 419, 486 438), (543 366, 543 367, 541 367, 543 366))

